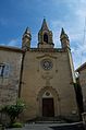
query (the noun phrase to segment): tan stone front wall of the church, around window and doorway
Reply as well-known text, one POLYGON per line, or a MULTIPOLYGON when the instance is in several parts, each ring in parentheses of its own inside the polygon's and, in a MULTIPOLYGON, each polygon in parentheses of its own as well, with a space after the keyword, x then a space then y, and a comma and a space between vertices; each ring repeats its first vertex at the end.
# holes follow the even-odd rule
POLYGON ((77 113, 73 78, 66 51, 42 52, 27 51, 24 60, 22 98, 27 110, 24 118, 42 116, 41 96, 49 91, 54 98, 54 116, 67 116, 77 113), (53 67, 45 70, 44 59, 50 59, 53 67), (41 93, 41 94, 40 94, 41 93), (56 94, 57 93, 57 94, 56 94))

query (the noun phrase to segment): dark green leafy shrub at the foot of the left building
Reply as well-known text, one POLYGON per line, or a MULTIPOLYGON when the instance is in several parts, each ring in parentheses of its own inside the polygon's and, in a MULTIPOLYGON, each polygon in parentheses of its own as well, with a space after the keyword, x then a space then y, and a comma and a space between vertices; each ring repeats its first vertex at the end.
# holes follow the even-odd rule
POLYGON ((25 104, 19 99, 14 105, 7 105, 2 107, 1 111, 8 114, 11 119, 11 123, 13 123, 24 108, 25 104))

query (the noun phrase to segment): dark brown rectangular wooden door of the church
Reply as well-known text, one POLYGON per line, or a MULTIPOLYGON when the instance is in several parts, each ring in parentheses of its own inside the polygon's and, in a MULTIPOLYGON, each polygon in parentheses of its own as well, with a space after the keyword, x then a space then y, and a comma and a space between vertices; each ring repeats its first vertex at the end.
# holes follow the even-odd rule
POLYGON ((54 117, 53 98, 42 98, 42 117, 54 117))

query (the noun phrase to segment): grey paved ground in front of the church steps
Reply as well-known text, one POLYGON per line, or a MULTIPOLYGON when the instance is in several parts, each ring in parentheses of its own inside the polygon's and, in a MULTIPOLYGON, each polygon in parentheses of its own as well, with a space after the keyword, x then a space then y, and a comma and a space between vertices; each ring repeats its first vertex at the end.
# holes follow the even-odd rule
POLYGON ((5 130, 85 130, 82 123, 28 123, 23 128, 13 128, 5 130))

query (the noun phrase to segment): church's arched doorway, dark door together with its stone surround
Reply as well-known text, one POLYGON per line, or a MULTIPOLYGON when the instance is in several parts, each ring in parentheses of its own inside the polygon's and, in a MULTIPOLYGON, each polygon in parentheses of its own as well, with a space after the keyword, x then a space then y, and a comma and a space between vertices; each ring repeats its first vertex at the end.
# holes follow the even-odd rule
POLYGON ((38 93, 38 116, 56 117, 60 115, 59 94, 52 86, 46 86, 38 93))

